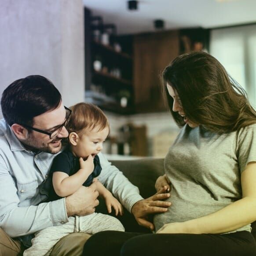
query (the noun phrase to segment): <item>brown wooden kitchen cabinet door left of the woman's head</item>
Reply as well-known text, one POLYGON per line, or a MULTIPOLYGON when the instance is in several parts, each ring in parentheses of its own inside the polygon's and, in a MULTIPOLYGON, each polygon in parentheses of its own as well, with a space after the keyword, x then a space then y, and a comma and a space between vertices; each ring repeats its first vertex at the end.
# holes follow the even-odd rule
POLYGON ((179 55, 179 31, 134 36, 134 104, 136 113, 167 110, 161 72, 179 55))

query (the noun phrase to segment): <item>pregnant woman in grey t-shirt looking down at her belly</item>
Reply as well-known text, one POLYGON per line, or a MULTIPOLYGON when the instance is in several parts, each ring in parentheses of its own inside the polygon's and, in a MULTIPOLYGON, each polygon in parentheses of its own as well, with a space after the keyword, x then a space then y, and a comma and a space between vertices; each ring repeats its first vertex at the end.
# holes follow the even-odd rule
MULTIPOLYGON (((243 89, 205 52, 174 59, 162 74, 172 117, 181 127, 165 157, 172 202, 154 216, 156 234, 102 232, 111 255, 255 256, 256 112, 243 89)), ((156 187, 167 185, 165 177, 156 187)), ((102 241, 104 243, 102 244, 102 241)), ((108 255, 108 254, 106 254, 108 255)))

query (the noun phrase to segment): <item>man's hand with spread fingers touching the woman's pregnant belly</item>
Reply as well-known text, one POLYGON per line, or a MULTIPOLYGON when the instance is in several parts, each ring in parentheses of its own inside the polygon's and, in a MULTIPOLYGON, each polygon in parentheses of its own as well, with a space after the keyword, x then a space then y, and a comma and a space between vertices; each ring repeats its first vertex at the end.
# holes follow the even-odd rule
POLYGON ((169 193, 162 194, 165 191, 165 188, 162 188, 154 196, 138 201, 132 206, 132 214, 139 225, 154 230, 154 225, 147 220, 147 216, 152 213, 167 212, 171 202, 161 201, 170 197, 169 193))

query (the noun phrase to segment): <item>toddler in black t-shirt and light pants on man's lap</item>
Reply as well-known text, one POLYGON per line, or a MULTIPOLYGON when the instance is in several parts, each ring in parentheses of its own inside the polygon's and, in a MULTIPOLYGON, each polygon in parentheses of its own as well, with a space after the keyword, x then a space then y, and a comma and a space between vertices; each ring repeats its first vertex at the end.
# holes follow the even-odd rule
MULTIPOLYGON (((50 170, 52 186, 49 201, 69 196, 81 186, 88 187, 95 182, 99 196, 105 199, 108 212, 113 207, 116 215, 122 215, 122 205, 96 179, 102 170, 98 154, 109 135, 109 122, 102 110, 92 104, 81 102, 71 107, 71 110, 66 125, 69 132, 68 145, 55 157, 50 170)), ((69 233, 95 234, 103 230, 124 231, 124 227, 118 219, 101 213, 72 216, 61 226, 38 231, 32 239, 32 247, 23 255, 49 255, 54 245, 69 233)))

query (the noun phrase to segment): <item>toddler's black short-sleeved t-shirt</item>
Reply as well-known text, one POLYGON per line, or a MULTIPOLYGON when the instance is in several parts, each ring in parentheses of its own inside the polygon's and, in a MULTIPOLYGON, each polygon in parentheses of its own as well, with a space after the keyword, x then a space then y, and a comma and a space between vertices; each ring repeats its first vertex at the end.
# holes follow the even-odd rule
MULTIPOLYGON (((102 170, 98 155, 95 155, 95 157, 93 159, 93 163, 94 163, 94 170, 90 174, 90 176, 88 176, 87 180, 83 183, 83 186, 85 186, 85 187, 90 186, 92 183, 92 180, 95 177, 99 176, 99 174, 102 170)), ((51 170, 49 173, 50 176, 49 176, 48 182, 51 182, 51 185, 50 185, 50 193, 49 193, 49 197, 48 197, 47 201, 54 201, 54 200, 61 198, 55 193, 53 185, 52 185, 53 172, 65 172, 66 174, 71 176, 71 175, 75 174, 79 169, 80 169, 79 158, 75 157, 69 151, 69 149, 66 149, 62 153, 57 155, 52 162, 51 170)))

